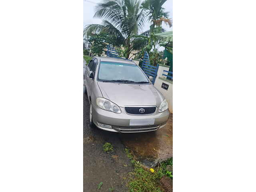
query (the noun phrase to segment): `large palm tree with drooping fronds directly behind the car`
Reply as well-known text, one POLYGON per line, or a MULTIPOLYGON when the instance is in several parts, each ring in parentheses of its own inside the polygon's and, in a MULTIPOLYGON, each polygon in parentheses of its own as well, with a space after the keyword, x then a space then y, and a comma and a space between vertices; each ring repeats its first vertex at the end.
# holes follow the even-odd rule
POLYGON ((92 32, 106 32, 116 36, 125 47, 126 58, 132 50, 138 50, 140 43, 136 35, 142 31, 146 17, 140 8, 139 0, 104 0, 96 6, 95 18, 101 18, 102 24, 91 24, 84 29, 84 35, 92 32))

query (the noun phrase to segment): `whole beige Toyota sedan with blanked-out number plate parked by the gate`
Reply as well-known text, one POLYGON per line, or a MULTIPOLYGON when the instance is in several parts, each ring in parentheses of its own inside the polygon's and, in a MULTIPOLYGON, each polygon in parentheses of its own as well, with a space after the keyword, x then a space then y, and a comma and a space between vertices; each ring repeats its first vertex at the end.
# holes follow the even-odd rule
POLYGON ((85 67, 90 124, 112 132, 156 131, 166 125, 168 103, 130 60, 94 57, 85 67))

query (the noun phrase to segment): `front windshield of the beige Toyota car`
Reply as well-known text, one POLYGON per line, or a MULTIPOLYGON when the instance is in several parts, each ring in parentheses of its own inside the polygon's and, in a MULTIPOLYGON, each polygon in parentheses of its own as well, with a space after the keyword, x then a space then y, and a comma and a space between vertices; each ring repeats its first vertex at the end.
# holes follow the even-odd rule
POLYGON ((137 65, 104 61, 100 62, 98 80, 105 82, 148 83, 148 78, 137 65))

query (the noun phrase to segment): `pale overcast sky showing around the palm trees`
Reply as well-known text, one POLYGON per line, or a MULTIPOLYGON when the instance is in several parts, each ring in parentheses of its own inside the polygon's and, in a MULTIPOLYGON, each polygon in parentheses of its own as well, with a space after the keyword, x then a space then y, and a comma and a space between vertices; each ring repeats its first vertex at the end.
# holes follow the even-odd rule
MULTIPOLYGON (((101 19, 93 18, 95 10, 94 7, 97 3, 101 2, 101 0, 84 0, 84 26, 88 24, 101 24, 101 19)), ((172 18, 172 0, 167 0, 163 7, 166 11, 170 12, 170 18, 172 18)), ((149 23, 146 23, 144 26, 144 31, 149 30, 149 23)), ((162 27, 166 31, 172 30, 169 26, 163 23, 162 27)))

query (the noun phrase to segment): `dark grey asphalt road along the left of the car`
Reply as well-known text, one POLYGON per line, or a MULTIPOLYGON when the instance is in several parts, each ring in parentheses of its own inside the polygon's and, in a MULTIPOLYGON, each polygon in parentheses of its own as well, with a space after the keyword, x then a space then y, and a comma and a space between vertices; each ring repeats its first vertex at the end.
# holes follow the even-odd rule
POLYGON ((84 192, 99 191, 100 182, 103 182, 101 191, 107 192, 113 187, 114 191, 126 192, 128 172, 133 167, 126 156, 120 134, 90 127, 89 109, 88 98, 84 94, 84 192), (103 152, 105 142, 114 146, 114 152, 103 152))

